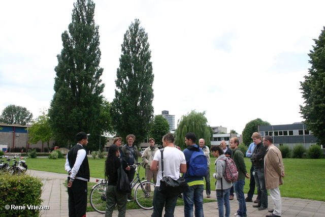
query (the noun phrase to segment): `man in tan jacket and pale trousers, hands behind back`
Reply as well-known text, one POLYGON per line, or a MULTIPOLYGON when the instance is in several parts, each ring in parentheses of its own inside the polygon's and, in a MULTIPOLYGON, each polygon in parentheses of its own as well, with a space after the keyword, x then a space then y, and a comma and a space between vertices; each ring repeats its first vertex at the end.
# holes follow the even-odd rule
POLYGON ((267 217, 278 217, 281 216, 282 207, 279 185, 283 184, 282 177, 284 177, 282 154, 279 148, 274 146, 271 136, 265 136, 263 144, 267 148, 264 159, 265 185, 274 203, 274 209, 269 210, 272 214, 267 215, 267 217))

